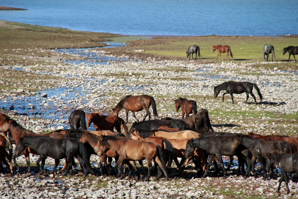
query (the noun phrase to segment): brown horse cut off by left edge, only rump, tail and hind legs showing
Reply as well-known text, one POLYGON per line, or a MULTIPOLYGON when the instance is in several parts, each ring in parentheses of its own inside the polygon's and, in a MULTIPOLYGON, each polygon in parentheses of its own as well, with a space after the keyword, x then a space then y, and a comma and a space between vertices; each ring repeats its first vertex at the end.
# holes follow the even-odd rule
POLYGON ((6 136, 0 135, 0 172, 3 172, 3 166, 2 161, 4 164, 10 168, 10 172, 13 173, 13 164, 11 163, 11 157, 13 155, 13 146, 11 145, 11 142, 9 138, 6 136), (5 147, 8 146, 9 154, 5 150, 5 147), (9 164, 5 160, 7 158, 9 164))

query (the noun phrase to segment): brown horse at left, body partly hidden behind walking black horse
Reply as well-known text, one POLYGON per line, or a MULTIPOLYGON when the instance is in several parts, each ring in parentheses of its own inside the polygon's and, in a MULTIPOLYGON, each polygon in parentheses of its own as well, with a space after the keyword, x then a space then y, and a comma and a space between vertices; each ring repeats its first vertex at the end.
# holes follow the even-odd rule
MULTIPOLYGON (((13 119, 9 119, 8 121, 4 122, 1 126, 0 126, 0 131, 1 132, 10 132, 10 135, 13 137, 13 139, 15 140, 15 144, 18 144, 18 141, 21 137, 24 136, 45 136, 45 137, 52 137, 52 138, 63 138, 63 134, 58 133, 58 132, 52 132, 52 133, 34 133, 30 130, 24 129, 23 127, 21 127, 21 125, 19 125, 15 120, 13 119)), ((25 148, 25 150, 20 153, 20 155, 24 154, 25 158, 26 158, 26 163, 28 166, 28 172, 31 171, 30 168, 30 158, 29 158, 29 153, 38 155, 38 153, 34 150, 34 149, 30 149, 30 148, 25 148)), ((18 166, 18 164, 15 161, 15 158, 17 156, 14 154, 13 155, 13 163, 15 166, 18 166)))

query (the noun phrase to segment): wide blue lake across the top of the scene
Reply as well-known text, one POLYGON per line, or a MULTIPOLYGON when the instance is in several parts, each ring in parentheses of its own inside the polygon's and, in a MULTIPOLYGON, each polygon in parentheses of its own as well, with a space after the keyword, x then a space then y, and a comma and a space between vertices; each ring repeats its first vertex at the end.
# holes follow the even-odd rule
POLYGON ((0 19, 126 35, 298 34, 297 0, 1 0, 0 19))

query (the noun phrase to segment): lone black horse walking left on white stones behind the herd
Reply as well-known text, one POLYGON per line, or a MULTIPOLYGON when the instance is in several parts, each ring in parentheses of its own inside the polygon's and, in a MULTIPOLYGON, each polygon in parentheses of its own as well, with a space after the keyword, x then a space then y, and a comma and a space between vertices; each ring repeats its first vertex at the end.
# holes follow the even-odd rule
POLYGON ((246 101, 244 103, 247 102, 250 94, 254 98, 254 103, 257 104, 256 97, 252 93, 253 87, 255 90, 257 90, 257 93, 260 97, 260 101, 262 101, 263 96, 260 92, 259 87, 257 86, 257 84, 251 83, 249 81, 240 81, 240 82, 226 81, 222 84, 219 84, 218 86, 214 87, 214 97, 217 98, 219 92, 221 92, 221 90, 225 90, 226 92, 224 92, 223 94, 222 101, 224 102, 224 95, 230 94, 232 99, 232 104, 234 104, 233 93, 241 94, 243 92, 246 92, 246 101))

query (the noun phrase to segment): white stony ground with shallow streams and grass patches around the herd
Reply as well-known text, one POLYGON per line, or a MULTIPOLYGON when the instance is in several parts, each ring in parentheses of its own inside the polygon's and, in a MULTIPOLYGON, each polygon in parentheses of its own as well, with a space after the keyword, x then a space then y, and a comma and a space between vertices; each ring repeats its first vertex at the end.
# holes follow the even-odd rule
MULTIPOLYGON (((7 86, 1 87, 0 107, 4 107, 1 112, 34 132, 49 132, 58 127, 69 128, 68 116, 74 109, 110 114, 111 108, 126 95, 151 95, 156 100, 159 116, 181 118, 181 111, 175 112, 173 99, 186 97, 195 100, 198 109, 206 108, 209 111, 215 131, 297 136, 297 71, 288 68, 269 70, 266 65, 270 62, 259 62, 257 64, 264 67, 254 68, 253 63, 230 61, 197 64, 195 61, 150 57, 140 60, 127 55, 120 57, 127 59, 123 61, 114 59, 108 49, 89 51, 100 56, 99 59, 104 59, 104 64, 88 63, 86 56, 69 54, 71 60, 84 62, 1 66, 1 74, 5 78, 1 78, 0 82, 7 86), (108 58, 103 58, 103 55, 108 55, 108 58), (228 95, 224 102, 221 102, 221 95, 214 98, 213 86, 229 80, 257 83, 263 101, 255 105, 250 97, 249 103, 245 104, 245 94, 234 95, 235 104, 231 103, 228 95), (55 88, 63 89, 55 91, 55 88), (48 94, 46 98, 41 96, 44 92, 48 94), (14 109, 8 110, 11 105, 14 109)), ((65 57, 64 53, 56 53, 54 50, 49 53, 55 56, 43 58, 47 59, 47 63, 65 57)), ((253 92, 257 97, 255 90, 253 92)), ((257 101, 260 101, 258 97, 257 101)), ((136 114, 139 119, 144 115, 145 111, 136 114)), ((125 118, 123 110, 119 117, 125 118)), ((128 127, 134 121, 130 113, 128 127)), ((36 158, 31 156, 32 162, 36 158)), ((24 166, 24 157, 19 157, 17 161, 24 166)), ((96 156, 92 156, 91 162, 97 168, 96 156)), ((53 161, 48 158, 46 165, 52 164, 53 161)), ((284 183, 281 194, 275 193, 279 179, 276 175, 266 181, 253 177, 244 179, 236 175, 236 168, 227 179, 215 177, 213 173, 206 179, 198 178, 193 167, 188 166, 182 179, 178 178, 174 169, 168 182, 164 179, 155 180, 155 176, 149 182, 142 182, 135 178, 83 178, 80 173, 37 177, 27 174, 24 167, 22 172, 14 176, 1 175, 1 197, 275 198, 283 197, 286 193, 284 183)), ((293 179, 294 182, 289 183, 292 195, 284 197, 297 197, 298 184, 296 178, 293 179)))

